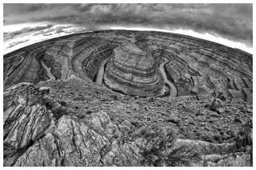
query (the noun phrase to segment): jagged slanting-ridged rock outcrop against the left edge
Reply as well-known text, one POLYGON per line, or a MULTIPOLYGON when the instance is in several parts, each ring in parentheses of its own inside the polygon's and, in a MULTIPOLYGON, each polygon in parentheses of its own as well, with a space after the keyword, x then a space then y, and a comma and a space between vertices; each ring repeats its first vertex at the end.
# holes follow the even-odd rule
POLYGON ((4 91, 4 166, 12 166, 54 122, 33 84, 19 83, 4 91))

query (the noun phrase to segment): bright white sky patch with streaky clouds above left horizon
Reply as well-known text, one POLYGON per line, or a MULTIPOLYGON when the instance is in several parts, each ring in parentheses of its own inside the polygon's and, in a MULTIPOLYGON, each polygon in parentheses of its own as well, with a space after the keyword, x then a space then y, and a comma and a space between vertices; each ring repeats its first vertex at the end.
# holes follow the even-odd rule
POLYGON ((45 25, 45 23, 24 23, 5 25, 4 31, 4 53, 8 53, 33 43, 59 36, 65 36, 67 34, 85 32, 88 30, 84 27, 77 27, 76 25, 45 25))

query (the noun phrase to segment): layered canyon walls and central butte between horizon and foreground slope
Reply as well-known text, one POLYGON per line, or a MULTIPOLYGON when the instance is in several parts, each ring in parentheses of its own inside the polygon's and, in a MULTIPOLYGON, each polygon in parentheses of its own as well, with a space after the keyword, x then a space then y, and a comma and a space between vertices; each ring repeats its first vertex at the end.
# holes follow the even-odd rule
POLYGON ((108 58, 104 82, 124 94, 159 96, 164 83, 157 67, 166 58, 170 62, 164 70, 177 96, 221 96, 252 103, 252 55, 204 39, 154 31, 94 31, 21 48, 4 55, 4 88, 49 79, 41 60, 57 80, 95 81, 100 63, 108 58))

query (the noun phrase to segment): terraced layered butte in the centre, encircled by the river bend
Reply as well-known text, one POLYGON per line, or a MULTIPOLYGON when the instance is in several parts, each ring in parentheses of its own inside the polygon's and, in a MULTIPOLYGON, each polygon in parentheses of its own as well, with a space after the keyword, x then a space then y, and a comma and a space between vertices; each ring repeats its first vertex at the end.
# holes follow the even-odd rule
POLYGON ((134 43, 120 45, 108 62, 104 83, 113 90, 131 96, 157 96, 164 84, 157 68, 159 59, 134 43))

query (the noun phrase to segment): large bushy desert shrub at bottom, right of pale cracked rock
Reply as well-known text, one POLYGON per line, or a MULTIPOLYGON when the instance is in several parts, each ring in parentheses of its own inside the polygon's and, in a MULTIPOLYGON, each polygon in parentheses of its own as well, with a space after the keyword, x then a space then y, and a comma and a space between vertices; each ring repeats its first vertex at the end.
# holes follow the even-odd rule
POLYGON ((142 166, 188 166, 191 159, 198 157, 193 148, 175 146, 177 134, 173 129, 144 128, 138 135, 146 142, 141 152, 142 166))

